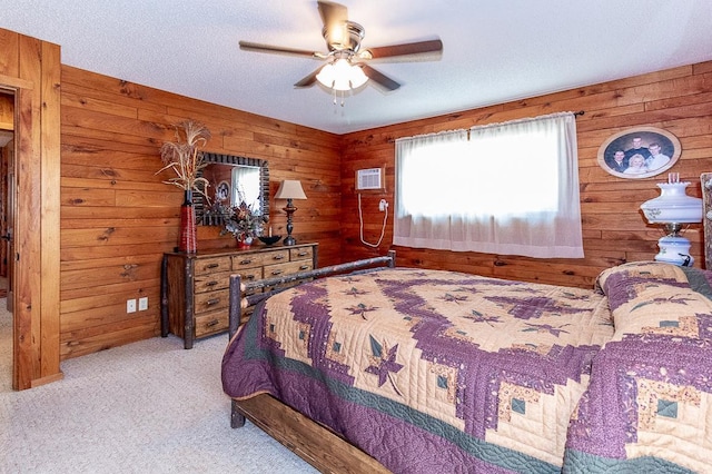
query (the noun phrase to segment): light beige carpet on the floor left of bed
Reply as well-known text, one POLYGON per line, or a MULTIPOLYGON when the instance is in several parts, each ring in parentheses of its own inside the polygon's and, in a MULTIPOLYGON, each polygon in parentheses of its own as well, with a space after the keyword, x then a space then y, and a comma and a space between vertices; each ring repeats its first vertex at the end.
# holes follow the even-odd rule
POLYGON ((0 299, 0 473, 315 473, 249 422, 229 425, 227 336, 152 338, 62 363, 65 379, 10 389, 0 299))

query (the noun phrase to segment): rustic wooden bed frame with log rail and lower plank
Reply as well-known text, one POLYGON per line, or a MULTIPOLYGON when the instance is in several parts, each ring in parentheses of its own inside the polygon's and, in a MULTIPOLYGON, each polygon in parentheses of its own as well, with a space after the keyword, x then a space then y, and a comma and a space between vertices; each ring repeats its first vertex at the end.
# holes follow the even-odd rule
MULTIPOLYGON (((394 267, 395 251, 390 250, 385 257, 367 258, 259 282, 243 283, 239 275, 233 275, 230 276, 229 307, 230 340, 237 333, 243 309, 267 299, 285 288, 257 293, 247 297, 241 297, 243 294, 253 289, 265 289, 330 275, 394 267)), ((323 473, 390 472, 328 427, 314 422, 271 395, 261 394, 244 401, 233 398, 230 426, 241 427, 245 425, 246 418, 323 473)))

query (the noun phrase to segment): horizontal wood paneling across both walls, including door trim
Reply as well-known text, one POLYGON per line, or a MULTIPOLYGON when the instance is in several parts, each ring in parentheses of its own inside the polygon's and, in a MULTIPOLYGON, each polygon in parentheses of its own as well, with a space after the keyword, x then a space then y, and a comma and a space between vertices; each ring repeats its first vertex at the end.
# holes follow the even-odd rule
MULTIPOLYGON (((210 129, 208 151, 267 160, 273 197, 280 180, 301 180, 308 199, 298 203, 294 235, 319 243, 319 266, 390 247, 392 216, 379 248, 360 244, 354 174, 386 169, 386 191, 363 195, 364 236, 373 243, 383 219, 378 201, 394 208, 398 137, 585 110, 577 118, 585 258, 396 248, 399 265, 582 287, 602 268, 651 258, 661 235, 639 206, 657 195, 654 184, 664 177, 625 180, 603 171, 596 152, 609 136, 660 127, 682 144, 673 170, 683 179, 696 184, 712 168, 712 62, 335 136, 61 66, 58 46, 6 30, 0 46, 0 83, 18 93, 18 206, 29 209, 17 223, 22 269, 14 344, 20 368, 13 378, 20 388, 60 376, 60 358, 158 335, 160 258, 178 243, 181 192, 155 172, 160 146, 172 139, 171 125, 187 118, 210 129), (149 309, 126 314, 126 300, 144 296, 149 309)), ((286 234, 285 205, 271 201, 275 234, 286 234)), ((686 234, 698 261, 700 234, 696 226, 686 234)), ((199 250, 234 246, 219 228, 199 227, 199 250)))

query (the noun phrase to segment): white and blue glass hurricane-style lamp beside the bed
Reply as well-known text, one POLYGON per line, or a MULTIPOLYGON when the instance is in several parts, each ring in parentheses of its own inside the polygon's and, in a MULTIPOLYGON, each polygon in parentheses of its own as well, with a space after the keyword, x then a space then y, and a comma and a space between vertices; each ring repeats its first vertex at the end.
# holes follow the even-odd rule
POLYGON ((681 182, 680 174, 671 172, 668 182, 659 182, 659 197, 646 200, 641 209, 650 224, 662 224, 665 236, 657 240, 660 251, 656 261, 692 266, 690 240, 680 235, 684 224, 702 221, 702 199, 688 196, 685 188, 690 182, 681 182))

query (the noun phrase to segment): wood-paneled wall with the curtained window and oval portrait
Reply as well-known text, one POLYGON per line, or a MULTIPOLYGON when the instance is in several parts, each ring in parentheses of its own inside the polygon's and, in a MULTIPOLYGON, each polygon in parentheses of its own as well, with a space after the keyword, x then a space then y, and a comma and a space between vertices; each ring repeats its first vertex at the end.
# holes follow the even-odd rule
MULTIPOLYGON (((712 170, 712 62, 349 134, 344 137, 342 167, 344 258, 385 254, 388 248, 395 248, 397 263, 402 266, 591 287, 603 268, 652 259, 657 253, 661 230, 646 224, 639 207, 644 200, 660 195, 655 182, 666 180, 666 174, 645 179, 621 179, 605 172, 596 161, 599 147, 606 138, 640 126, 659 127, 680 139, 682 156, 671 171, 692 181, 694 188, 688 188, 689 194, 700 197, 700 174, 712 170), (585 111, 576 119, 585 258, 535 259, 394 247, 392 215, 379 248, 360 243, 354 174, 356 169, 386 167, 386 191, 362 195, 364 236, 367 241, 376 243, 383 221, 378 201, 387 199, 389 213, 394 208, 395 139, 578 110, 585 111)), ((522 192, 525 195, 526 189, 522 192)), ((692 226, 685 236, 693 241, 691 251, 696 266, 703 265, 701 226, 692 226)))

